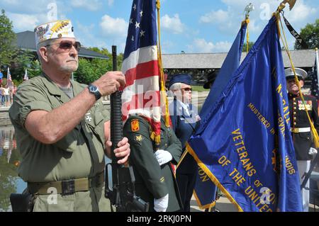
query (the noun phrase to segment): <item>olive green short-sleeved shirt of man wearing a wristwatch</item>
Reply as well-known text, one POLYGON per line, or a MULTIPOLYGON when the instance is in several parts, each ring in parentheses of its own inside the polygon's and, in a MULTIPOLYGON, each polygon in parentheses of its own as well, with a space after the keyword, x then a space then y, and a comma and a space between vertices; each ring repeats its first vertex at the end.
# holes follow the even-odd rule
MULTIPOLYGON (((74 96, 86 87, 76 81, 71 83, 74 96)), ((81 122, 55 144, 45 145, 26 130, 24 123, 30 111, 52 111, 67 101, 69 97, 45 74, 18 87, 9 116, 22 155, 18 174, 24 181, 62 181, 95 176, 103 171, 103 124, 109 120, 109 114, 101 101, 96 101, 81 122)))

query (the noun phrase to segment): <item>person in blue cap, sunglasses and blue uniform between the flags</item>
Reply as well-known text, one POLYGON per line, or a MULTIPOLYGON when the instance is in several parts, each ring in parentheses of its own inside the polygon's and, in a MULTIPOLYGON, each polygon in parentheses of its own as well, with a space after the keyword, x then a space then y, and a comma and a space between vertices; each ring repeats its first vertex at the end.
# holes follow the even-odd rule
MULTIPOLYGON (((176 74, 169 81, 169 96, 174 96, 174 101, 169 104, 172 126, 175 134, 181 141, 183 152, 191 134, 195 131, 199 116, 194 112, 191 104, 191 75, 176 74)), ((191 154, 183 154, 181 163, 177 166, 176 179, 184 205, 184 212, 191 208, 191 196, 193 195, 196 181, 197 163, 191 154)))

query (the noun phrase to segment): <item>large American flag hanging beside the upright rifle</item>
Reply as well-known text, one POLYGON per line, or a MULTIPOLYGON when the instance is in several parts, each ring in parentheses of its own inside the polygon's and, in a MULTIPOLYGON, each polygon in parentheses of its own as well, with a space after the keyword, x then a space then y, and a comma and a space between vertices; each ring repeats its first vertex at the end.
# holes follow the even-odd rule
POLYGON ((129 21, 122 66, 126 79, 123 120, 128 115, 142 115, 158 138, 161 112, 155 0, 134 0, 129 21))

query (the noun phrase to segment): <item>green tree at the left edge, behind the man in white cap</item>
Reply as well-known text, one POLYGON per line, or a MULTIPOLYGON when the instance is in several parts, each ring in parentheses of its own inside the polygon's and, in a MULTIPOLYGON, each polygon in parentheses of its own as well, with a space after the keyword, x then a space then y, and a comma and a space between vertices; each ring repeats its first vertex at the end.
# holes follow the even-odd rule
POLYGON ((12 21, 6 16, 4 9, 0 15, 0 67, 9 65, 13 62, 16 55, 16 48, 12 43, 16 39, 16 34, 13 32, 12 21))

